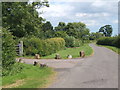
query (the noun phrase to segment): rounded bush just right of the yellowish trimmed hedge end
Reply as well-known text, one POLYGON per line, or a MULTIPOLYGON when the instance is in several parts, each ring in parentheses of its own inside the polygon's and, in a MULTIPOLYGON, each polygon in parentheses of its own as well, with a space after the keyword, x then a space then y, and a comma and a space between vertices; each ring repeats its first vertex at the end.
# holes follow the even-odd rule
POLYGON ((79 47, 81 44, 82 44, 82 41, 75 39, 73 36, 65 37, 66 47, 79 47))

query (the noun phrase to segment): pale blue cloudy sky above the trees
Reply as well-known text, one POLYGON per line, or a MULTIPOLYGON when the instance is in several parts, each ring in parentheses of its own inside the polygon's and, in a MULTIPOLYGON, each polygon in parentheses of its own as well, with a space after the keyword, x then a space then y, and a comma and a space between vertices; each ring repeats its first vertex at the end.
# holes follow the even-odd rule
POLYGON ((39 16, 55 27, 59 22, 83 22, 90 32, 112 25, 113 35, 118 34, 118 0, 48 0, 50 7, 42 7, 39 16))

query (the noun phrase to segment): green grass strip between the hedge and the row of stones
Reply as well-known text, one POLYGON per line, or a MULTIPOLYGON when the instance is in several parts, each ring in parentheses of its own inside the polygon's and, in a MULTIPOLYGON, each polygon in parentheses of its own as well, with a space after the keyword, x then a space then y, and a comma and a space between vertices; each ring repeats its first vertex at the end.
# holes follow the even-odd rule
MULTIPOLYGON (((65 50, 58 51, 57 53, 60 54, 61 58, 66 59, 68 55, 72 55, 73 58, 79 57, 79 52, 84 51, 86 56, 90 56, 93 53, 93 49, 88 45, 85 44, 78 48, 66 48, 65 50)), ((54 53, 49 56, 42 57, 43 59, 53 59, 55 58, 55 55, 57 53, 54 53)))

